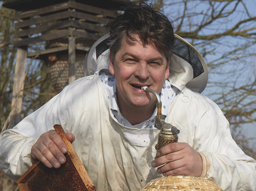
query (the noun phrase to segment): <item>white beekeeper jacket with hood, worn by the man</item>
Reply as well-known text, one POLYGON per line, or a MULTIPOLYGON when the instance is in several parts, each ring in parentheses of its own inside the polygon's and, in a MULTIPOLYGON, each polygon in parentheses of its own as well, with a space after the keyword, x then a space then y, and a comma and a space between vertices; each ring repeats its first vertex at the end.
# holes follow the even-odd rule
MULTIPOLYGON (((104 36, 96 42, 86 57, 88 70, 85 73, 94 73, 93 76, 72 82, 13 129, 3 132, 0 166, 11 179, 19 179, 32 165, 32 145, 55 124, 75 135, 72 145, 98 191, 136 191, 162 176, 156 172, 157 168, 151 166, 160 130, 125 127, 110 111, 98 76, 100 70, 108 69, 108 50, 103 48, 102 56, 99 56, 95 48, 101 46, 100 43, 106 38, 104 36), (97 64, 94 69, 90 66, 93 62, 97 64), (105 63, 100 65, 99 62, 105 63), (131 140, 124 136, 127 134, 131 140), (147 143, 143 145, 143 142, 147 143)), ((176 39, 180 37, 176 36, 176 39)), ((182 93, 171 105, 165 121, 180 129, 179 142, 188 143, 204 156, 207 168, 205 178, 219 184, 225 191, 255 190, 256 161, 245 155, 234 142, 229 123, 219 107, 207 97, 190 90, 195 88, 195 91, 201 92, 206 85, 204 61, 199 56, 204 66, 204 72, 197 76, 201 82, 203 79, 200 86, 195 74, 193 78, 192 66, 179 59, 176 55, 171 59, 173 64, 170 64, 169 81, 182 93), (178 62, 180 66, 175 64, 178 62), (187 88, 186 84, 191 88, 187 88)))

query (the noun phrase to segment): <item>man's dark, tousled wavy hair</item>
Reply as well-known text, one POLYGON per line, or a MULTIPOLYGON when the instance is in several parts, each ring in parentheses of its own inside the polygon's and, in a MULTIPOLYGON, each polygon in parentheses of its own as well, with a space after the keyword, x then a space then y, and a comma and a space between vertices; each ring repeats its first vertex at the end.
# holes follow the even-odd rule
POLYGON ((156 46, 162 50, 167 61, 171 59, 174 45, 173 23, 154 8, 152 4, 140 2, 121 8, 123 14, 117 16, 107 24, 109 30, 110 52, 115 57, 121 48, 122 40, 125 35, 132 41, 136 41, 133 34, 138 34, 144 39, 145 44, 148 39, 152 39, 156 46))

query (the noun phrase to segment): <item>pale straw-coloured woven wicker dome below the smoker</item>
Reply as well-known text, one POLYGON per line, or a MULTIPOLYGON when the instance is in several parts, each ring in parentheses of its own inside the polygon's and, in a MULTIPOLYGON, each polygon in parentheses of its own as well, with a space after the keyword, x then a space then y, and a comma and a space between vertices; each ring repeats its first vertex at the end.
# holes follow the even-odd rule
POLYGON ((196 176, 167 176, 152 180, 140 191, 223 191, 219 185, 196 176))

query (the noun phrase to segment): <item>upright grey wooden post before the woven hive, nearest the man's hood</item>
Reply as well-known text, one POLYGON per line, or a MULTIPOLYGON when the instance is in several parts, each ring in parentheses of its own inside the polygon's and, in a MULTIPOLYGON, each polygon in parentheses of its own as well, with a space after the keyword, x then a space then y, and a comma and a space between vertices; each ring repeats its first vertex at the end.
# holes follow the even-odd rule
POLYGON ((75 81, 75 37, 68 37, 68 84, 75 81))

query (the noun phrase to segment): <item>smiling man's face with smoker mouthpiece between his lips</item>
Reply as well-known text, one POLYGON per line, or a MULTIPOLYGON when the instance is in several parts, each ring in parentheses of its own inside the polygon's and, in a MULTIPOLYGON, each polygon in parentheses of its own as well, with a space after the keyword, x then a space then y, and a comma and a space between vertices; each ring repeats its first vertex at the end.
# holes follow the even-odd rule
POLYGON ((169 63, 155 43, 148 39, 144 43, 138 35, 137 41, 124 37, 120 50, 111 59, 109 71, 115 75, 119 108, 147 108, 155 104, 156 97, 145 92, 142 86, 161 92, 165 79, 169 77, 169 63))

